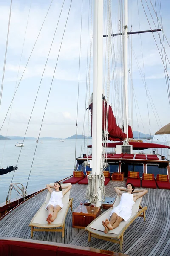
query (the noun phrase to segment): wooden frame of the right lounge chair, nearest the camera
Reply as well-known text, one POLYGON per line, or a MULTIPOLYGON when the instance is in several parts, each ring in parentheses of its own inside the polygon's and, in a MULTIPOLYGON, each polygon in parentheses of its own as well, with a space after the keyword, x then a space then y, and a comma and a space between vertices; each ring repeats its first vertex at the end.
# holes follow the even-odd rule
MULTIPOLYGON (((102 215, 106 214, 106 212, 108 212, 108 211, 111 212, 111 210, 113 208, 114 208, 114 206, 111 209, 108 209, 107 211, 105 211, 102 215)), ((96 229, 90 227, 97 219, 101 218, 101 221, 103 220, 102 215, 100 215, 94 221, 92 221, 87 227, 85 227, 85 230, 88 231, 88 242, 91 241, 91 237, 99 238, 102 240, 120 244, 120 251, 122 251, 123 235, 124 235, 125 230, 127 230, 127 228, 133 223, 133 221, 137 217, 142 217, 143 220, 145 221, 146 220, 146 215, 145 215, 146 210, 147 210, 147 206, 141 207, 141 205, 139 205, 139 211, 136 212, 136 214, 133 215, 132 218, 130 218, 130 221, 127 221, 127 224, 125 225, 125 227, 123 227, 122 230, 118 234, 113 234, 113 233, 105 234, 103 231, 96 230, 96 229)))

